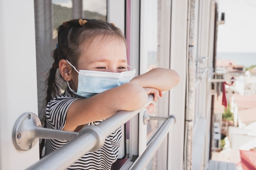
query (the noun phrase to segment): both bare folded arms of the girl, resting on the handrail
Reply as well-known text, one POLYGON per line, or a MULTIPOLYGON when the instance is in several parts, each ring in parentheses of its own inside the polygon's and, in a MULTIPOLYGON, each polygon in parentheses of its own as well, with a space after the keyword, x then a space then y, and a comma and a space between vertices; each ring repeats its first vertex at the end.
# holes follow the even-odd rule
POLYGON ((148 101, 148 94, 154 94, 156 102, 162 96, 161 91, 170 90, 179 81, 176 71, 154 68, 129 83, 88 98, 77 99, 67 110, 63 130, 74 131, 77 126, 107 119, 120 110, 141 109, 148 101))

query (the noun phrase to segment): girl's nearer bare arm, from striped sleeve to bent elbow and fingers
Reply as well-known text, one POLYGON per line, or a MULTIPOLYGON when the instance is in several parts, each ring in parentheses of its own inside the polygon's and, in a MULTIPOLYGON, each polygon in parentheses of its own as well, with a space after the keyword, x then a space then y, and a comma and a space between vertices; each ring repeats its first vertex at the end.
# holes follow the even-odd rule
POLYGON ((120 110, 141 109, 148 102, 150 93, 157 95, 159 92, 129 82, 88 98, 77 99, 67 110, 63 130, 74 131, 77 126, 106 119, 120 110))

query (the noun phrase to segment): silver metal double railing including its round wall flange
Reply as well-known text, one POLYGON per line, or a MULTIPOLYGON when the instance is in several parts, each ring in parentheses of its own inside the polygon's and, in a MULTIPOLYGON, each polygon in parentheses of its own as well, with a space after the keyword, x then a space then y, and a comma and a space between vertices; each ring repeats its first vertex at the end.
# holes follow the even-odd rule
MULTIPOLYGON (((25 151, 33 148, 38 138, 70 140, 65 146, 27 168, 27 170, 63 170, 85 153, 99 150, 103 146, 106 137, 152 102, 153 95, 151 94, 148 96, 148 103, 143 108, 134 111, 119 111, 96 126, 84 127, 79 133, 41 128, 40 120, 34 113, 24 113, 14 125, 13 144, 17 149, 25 151)), ((150 119, 166 121, 159 128, 143 154, 132 164, 132 170, 141 170, 148 165, 171 126, 175 123, 173 115, 166 118, 144 115, 144 122, 150 119)))

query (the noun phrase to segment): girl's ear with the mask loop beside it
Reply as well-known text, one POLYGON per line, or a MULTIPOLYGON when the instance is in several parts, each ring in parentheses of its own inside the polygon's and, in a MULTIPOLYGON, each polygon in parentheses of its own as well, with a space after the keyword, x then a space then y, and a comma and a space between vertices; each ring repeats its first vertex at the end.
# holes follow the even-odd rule
POLYGON ((66 60, 61 59, 58 62, 58 68, 60 70, 61 76, 65 81, 70 81, 72 79, 72 67, 67 63, 66 60))

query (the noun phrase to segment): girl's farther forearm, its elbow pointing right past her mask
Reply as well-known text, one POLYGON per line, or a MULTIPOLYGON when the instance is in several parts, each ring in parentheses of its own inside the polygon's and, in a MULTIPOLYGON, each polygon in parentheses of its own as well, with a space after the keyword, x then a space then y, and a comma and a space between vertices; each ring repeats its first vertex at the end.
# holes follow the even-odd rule
POLYGON ((147 73, 134 77, 130 82, 141 87, 152 87, 159 91, 168 91, 180 82, 180 76, 171 69, 153 68, 147 73))

